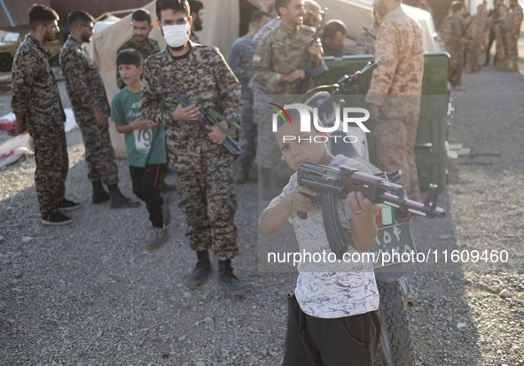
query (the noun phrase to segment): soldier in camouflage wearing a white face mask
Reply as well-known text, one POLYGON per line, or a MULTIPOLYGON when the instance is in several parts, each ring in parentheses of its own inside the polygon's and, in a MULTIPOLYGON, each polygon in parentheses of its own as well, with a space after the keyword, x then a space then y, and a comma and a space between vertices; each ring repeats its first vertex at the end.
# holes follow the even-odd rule
MULTIPOLYGON (((240 85, 215 47, 188 40, 192 18, 186 0, 157 0, 156 12, 157 26, 168 47, 146 61, 141 113, 166 128, 169 161, 179 184, 179 206, 186 216, 186 236, 198 257, 188 284, 206 281, 211 248, 219 261, 219 282, 231 293, 241 294, 246 286, 231 268, 231 259, 239 252, 233 156, 223 146, 225 135, 218 126, 206 129, 197 121, 199 111, 217 107, 227 120, 239 121, 240 85), (160 82, 159 74, 193 104, 183 107, 168 85, 160 82)), ((227 121, 219 123, 228 128, 227 121)))

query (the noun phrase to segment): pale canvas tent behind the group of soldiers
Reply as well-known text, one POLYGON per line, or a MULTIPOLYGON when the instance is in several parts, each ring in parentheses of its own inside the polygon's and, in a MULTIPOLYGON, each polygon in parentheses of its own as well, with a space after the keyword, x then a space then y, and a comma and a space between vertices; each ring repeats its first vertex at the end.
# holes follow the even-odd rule
MULTIPOLYGON (((256 0, 249 0, 257 5, 256 0)), ((200 43, 217 46, 227 57, 231 44, 239 37, 239 0, 203 0, 206 19, 204 29, 197 35, 200 43)), ((371 9, 372 0, 317 0, 322 7, 328 8, 327 19, 340 19, 348 27, 348 38, 355 40, 363 31, 363 27, 369 27, 372 22, 371 9)), ((153 32, 150 35, 164 48, 164 42, 160 30, 156 27, 156 13, 154 1, 145 6, 153 19, 153 32)), ((438 43, 435 42, 435 31, 433 19, 429 12, 403 5, 403 10, 412 19, 418 21, 424 32, 424 50, 440 51, 438 43)), ((92 58, 98 66, 98 70, 106 84, 107 96, 111 100, 113 94, 118 91, 116 86, 116 51, 122 43, 126 42, 132 35, 131 16, 128 15, 120 21, 108 25, 95 33, 92 39, 92 58)), ((118 157, 125 157, 125 144, 123 135, 116 132, 113 123, 110 128, 113 146, 118 157)))

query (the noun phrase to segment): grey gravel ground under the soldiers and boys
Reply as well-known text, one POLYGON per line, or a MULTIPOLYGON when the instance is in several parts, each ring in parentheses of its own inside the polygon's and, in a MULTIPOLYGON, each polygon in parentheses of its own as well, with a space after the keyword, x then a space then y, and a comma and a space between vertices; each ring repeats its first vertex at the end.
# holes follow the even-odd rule
MULTIPOLYGON (((507 250, 509 261, 408 266, 415 350, 420 365, 524 365, 524 76, 485 68, 465 74, 464 87, 452 95, 450 139, 471 154, 450 170, 441 196, 447 217, 415 219, 413 236, 421 252, 507 250), (511 297, 500 297, 503 290, 511 297)), ((0 101, 8 113, 9 95, 0 101)), ((72 225, 40 224, 32 158, 0 171, 0 364, 279 364, 295 275, 257 270, 256 181, 236 187, 233 265, 246 296, 223 291, 216 263, 207 284, 193 289, 184 284, 195 255, 176 192, 171 238, 147 252, 145 206, 91 205, 82 136, 76 130, 67 140, 66 196, 82 202, 72 225)), ((125 161, 118 166, 130 194, 125 161)))

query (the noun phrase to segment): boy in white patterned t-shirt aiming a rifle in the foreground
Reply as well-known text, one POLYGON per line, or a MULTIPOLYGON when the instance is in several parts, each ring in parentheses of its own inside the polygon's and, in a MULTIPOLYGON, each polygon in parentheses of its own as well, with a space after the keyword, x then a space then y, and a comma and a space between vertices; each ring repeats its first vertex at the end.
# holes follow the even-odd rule
MULTIPOLYGON (((330 167, 349 165, 369 172, 356 160, 343 155, 333 157, 327 150, 326 136, 311 123, 311 131, 301 131, 300 114, 288 109, 290 123, 278 118, 275 133, 285 161, 297 170, 304 163, 330 167), (318 142, 317 142, 318 141, 318 142)), ((310 115, 312 111, 309 109, 310 115)), ((299 186, 296 173, 282 193, 262 212, 259 228, 270 235, 291 219, 301 253, 329 253, 317 193, 299 186), (299 212, 307 218, 299 218, 299 212)), ((379 205, 361 192, 348 194, 339 205, 340 222, 351 231, 353 247, 348 253, 367 252, 377 235, 375 215, 379 205)), ((302 216, 303 217, 303 216, 302 216)), ((372 365, 379 343, 379 292, 372 263, 325 263, 313 268, 301 263, 293 295, 288 295, 287 332, 284 365, 372 365)))

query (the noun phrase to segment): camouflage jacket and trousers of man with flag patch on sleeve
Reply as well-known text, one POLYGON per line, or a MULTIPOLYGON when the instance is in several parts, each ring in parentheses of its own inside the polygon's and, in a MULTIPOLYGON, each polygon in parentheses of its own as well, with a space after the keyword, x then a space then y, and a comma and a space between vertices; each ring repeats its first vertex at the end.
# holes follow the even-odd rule
MULTIPOLYGON (((269 23, 268 23, 269 24, 269 23)), ((299 100, 301 80, 278 82, 284 74, 303 69, 308 49, 315 30, 299 26, 291 30, 284 25, 270 31, 257 47, 253 56, 253 82, 261 86, 254 89, 254 113, 258 123, 258 163, 259 167, 275 166, 281 154, 271 129, 271 112, 268 103, 285 105, 299 100), (279 97, 275 100, 275 96, 279 97)))

